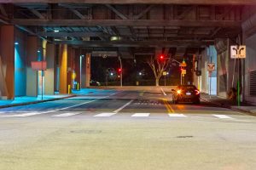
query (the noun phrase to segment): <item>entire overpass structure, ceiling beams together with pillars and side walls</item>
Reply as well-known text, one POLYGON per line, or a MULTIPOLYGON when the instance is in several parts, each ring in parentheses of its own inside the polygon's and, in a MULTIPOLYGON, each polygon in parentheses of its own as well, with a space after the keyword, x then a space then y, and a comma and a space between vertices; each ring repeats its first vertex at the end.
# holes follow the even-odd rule
MULTIPOLYGON (((90 86, 90 58, 161 53, 198 62, 194 83, 209 92, 206 65, 217 64, 212 87, 225 97, 236 86, 238 62, 230 45, 247 45, 240 77, 244 99, 256 102, 255 0, 0 0, 0 94, 3 99, 90 86), (150 53, 148 53, 150 51, 150 53), (84 55, 84 57, 82 57, 84 55), (45 77, 32 61, 46 60, 45 77), (76 73, 76 77, 73 77, 76 73), (74 79, 74 80, 73 80, 74 79)), ((214 89, 212 89, 214 91, 214 89)))

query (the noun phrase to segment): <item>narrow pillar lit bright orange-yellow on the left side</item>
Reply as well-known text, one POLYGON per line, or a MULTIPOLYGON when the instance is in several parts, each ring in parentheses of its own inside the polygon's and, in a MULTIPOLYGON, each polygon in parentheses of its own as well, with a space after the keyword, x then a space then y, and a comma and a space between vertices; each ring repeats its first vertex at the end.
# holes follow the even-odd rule
POLYGON ((60 94, 67 94, 67 44, 60 45, 60 94))

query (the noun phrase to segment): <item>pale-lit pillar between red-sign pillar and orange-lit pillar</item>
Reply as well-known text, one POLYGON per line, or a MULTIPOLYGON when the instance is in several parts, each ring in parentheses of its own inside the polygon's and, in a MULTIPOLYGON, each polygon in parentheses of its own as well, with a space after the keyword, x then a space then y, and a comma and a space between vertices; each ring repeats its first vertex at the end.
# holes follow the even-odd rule
POLYGON ((46 62, 47 70, 45 71, 45 94, 55 94, 55 44, 46 44, 46 62))

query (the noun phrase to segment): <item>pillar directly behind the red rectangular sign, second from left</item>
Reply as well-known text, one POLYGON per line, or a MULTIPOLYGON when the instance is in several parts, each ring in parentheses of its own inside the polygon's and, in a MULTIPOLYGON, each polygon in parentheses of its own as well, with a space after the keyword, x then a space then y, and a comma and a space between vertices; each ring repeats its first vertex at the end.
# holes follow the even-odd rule
POLYGON ((38 96, 38 73, 31 66, 38 60, 38 37, 27 37, 26 47, 26 95, 38 96))

